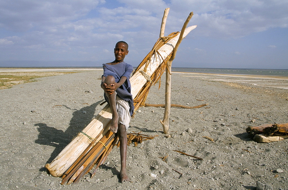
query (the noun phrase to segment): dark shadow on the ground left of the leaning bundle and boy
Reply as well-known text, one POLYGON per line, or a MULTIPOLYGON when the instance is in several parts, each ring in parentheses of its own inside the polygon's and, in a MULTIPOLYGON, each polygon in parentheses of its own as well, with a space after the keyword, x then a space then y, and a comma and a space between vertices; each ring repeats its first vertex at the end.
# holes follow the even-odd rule
MULTIPOLYGON (((98 102, 83 107, 80 110, 74 109, 75 111, 72 114, 73 116, 69 122, 69 127, 65 132, 50 127, 45 123, 35 124, 35 126, 39 126, 38 139, 35 140, 35 143, 55 147, 46 164, 54 160, 55 157, 73 140, 73 138, 90 123, 90 121, 95 117, 95 108, 101 102, 103 102, 103 100, 99 100, 98 102), (86 113, 84 111, 86 111, 86 113)), ((71 109, 65 105, 62 106, 71 109)))

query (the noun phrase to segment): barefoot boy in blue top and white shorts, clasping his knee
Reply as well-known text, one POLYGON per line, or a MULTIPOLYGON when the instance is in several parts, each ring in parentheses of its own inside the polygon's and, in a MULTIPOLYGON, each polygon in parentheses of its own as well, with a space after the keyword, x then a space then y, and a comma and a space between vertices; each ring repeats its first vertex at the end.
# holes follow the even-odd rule
POLYGON ((128 44, 124 41, 117 42, 114 48, 115 60, 103 64, 104 74, 101 81, 104 98, 112 109, 109 129, 117 133, 120 140, 121 183, 130 180, 126 174, 127 129, 134 111, 129 80, 133 67, 124 62, 127 54, 128 44))

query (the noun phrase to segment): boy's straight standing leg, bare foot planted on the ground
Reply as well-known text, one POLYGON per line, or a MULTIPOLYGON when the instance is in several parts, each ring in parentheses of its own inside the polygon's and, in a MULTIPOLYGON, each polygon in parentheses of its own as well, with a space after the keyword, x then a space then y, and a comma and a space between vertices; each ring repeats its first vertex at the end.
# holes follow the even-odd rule
POLYGON ((121 160, 121 170, 120 177, 121 183, 125 181, 130 181, 126 173, 126 155, 127 155, 127 131, 123 124, 118 124, 118 138, 120 140, 120 160, 121 160))

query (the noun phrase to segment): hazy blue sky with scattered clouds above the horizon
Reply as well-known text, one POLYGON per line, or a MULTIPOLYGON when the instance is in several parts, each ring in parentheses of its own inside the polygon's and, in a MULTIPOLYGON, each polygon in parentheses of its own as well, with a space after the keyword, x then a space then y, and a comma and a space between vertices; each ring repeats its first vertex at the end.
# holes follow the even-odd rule
POLYGON ((287 0, 0 0, 0 66, 101 66, 118 41, 138 66, 159 38, 197 25, 173 67, 288 69, 287 0))

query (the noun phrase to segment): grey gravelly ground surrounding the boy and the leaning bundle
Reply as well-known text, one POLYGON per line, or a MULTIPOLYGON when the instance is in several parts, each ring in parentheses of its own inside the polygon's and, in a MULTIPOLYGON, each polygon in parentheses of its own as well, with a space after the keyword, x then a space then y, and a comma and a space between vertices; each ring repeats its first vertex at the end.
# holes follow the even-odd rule
MULTIPOLYGON (((61 179, 44 166, 105 106, 99 105, 101 75, 102 71, 87 70, 0 90, 1 189, 256 189, 257 182, 288 189, 288 140, 256 143, 245 130, 288 123, 287 77, 201 73, 172 76, 173 104, 209 105, 171 108, 171 138, 164 136, 159 122, 164 108, 141 107, 131 120, 128 132, 159 135, 128 147, 132 183, 119 183, 120 155, 115 147, 92 179, 87 174, 78 184, 60 185, 61 179), (158 158, 167 155, 167 162, 158 158)), ((158 83, 153 86, 146 102, 164 104, 164 85, 160 90, 158 83)))

